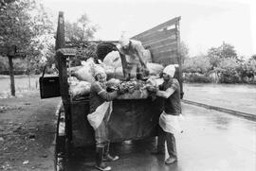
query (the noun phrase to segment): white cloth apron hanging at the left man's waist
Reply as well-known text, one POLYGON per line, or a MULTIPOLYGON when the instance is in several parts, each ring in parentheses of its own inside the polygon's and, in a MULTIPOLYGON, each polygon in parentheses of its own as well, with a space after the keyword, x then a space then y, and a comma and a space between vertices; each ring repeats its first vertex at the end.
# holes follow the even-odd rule
POLYGON ((99 128, 107 111, 112 112, 112 101, 102 103, 96 111, 87 115, 87 119, 94 129, 99 128))

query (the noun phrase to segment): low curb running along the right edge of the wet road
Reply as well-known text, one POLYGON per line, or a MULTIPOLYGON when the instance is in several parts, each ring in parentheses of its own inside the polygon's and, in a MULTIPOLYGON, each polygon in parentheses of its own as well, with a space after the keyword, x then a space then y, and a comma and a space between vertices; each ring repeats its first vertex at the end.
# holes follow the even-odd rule
POLYGON ((182 99, 182 102, 190 104, 190 105, 203 107, 203 108, 210 109, 210 110, 228 112, 229 114, 232 114, 232 115, 236 115, 236 116, 240 116, 240 117, 244 117, 244 118, 256 121, 256 114, 251 114, 251 113, 247 113, 247 112, 243 112, 243 111, 233 111, 233 110, 230 110, 230 109, 221 108, 221 107, 217 107, 217 106, 212 106, 212 105, 209 105, 209 104, 199 103, 199 102, 186 100, 186 99, 182 99))

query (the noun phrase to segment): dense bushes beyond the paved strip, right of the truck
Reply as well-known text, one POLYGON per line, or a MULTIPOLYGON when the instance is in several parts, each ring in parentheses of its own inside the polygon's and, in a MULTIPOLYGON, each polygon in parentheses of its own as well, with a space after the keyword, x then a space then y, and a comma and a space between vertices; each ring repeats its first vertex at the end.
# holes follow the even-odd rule
POLYGON ((183 66, 185 81, 220 83, 256 83, 256 56, 245 60, 238 57, 234 47, 223 43, 211 47, 207 56, 186 59, 183 66), (214 74, 215 73, 215 74, 214 74))

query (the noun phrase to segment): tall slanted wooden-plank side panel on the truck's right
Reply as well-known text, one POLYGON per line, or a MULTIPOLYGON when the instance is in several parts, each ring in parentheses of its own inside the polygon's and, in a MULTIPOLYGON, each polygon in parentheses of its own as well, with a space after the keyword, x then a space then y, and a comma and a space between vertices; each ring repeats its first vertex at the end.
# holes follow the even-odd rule
POLYGON ((179 64, 179 24, 180 17, 176 17, 161 25, 144 31, 132 39, 140 41, 151 51, 153 61, 166 66, 179 64))

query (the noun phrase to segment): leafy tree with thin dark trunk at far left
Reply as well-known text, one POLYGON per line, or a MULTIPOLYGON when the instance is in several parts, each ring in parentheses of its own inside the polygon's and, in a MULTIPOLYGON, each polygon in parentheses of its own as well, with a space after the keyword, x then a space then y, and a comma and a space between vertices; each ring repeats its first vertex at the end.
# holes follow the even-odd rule
POLYGON ((52 24, 43 5, 36 3, 35 0, 16 0, 1 9, 0 44, 8 48, 15 47, 19 52, 19 55, 16 52, 11 55, 9 52, 3 54, 9 58, 12 95, 15 95, 12 58, 26 58, 27 64, 30 65, 31 61, 41 54, 45 40, 42 36, 51 31, 52 24))

